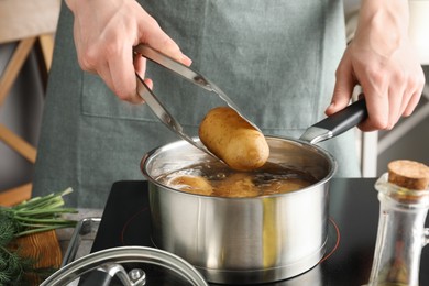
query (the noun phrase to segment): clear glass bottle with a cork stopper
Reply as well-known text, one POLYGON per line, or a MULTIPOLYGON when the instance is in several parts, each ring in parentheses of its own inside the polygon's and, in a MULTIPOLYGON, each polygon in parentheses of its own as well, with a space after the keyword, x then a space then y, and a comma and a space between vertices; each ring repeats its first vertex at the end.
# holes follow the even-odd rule
POLYGON ((429 167, 411 161, 388 164, 375 184, 380 218, 369 286, 418 286, 421 249, 429 243, 429 167))

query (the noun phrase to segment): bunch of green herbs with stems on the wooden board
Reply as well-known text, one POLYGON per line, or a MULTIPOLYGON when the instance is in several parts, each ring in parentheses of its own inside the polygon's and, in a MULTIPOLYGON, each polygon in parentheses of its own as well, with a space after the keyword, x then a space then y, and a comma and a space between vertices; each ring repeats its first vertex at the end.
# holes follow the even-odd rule
POLYGON ((74 208, 63 207, 63 196, 72 191, 72 188, 68 188, 57 194, 32 198, 10 208, 0 207, 0 285, 20 283, 25 274, 36 273, 32 267, 34 260, 23 257, 20 250, 11 251, 8 248, 13 239, 76 226, 75 220, 62 218, 64 213, 77 212, 74 208))

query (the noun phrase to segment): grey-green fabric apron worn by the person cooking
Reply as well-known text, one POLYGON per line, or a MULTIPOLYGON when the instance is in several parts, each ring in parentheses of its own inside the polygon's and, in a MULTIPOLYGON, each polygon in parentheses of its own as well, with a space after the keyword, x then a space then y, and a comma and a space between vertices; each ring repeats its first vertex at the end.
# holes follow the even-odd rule
MULTIPOLYGON (((299 138, 324 117, 345 46, 340 0, 142 0, 193 58, 193 68, 229 95, 265 134, 299 138)), ((217 98, 155 65, 154 91, 197 135, 217 98)), ((320 144, 338 176, 359 176, 353 131, 320 144)), ((73 15, 63 4, 38 143, 33 196, 73 187, 69 206, 103 207, 117 180, 144 179, 143 155, 178 140, 147 106, 120 101, 81 72, 73 15)))

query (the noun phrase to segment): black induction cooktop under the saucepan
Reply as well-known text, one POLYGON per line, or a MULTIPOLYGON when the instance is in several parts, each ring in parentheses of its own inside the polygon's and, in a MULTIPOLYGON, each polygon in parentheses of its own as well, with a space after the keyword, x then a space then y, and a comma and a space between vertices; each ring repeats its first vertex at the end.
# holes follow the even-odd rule
MULTIPOLYGON (((366 284, 378 223, 380 202, 374 183, 375 178, 333 179, 327 255, 314 268, 297 277, 265 285, 366 284)), ((147 195, 147 182, 113 184, 91 252, 124 245, 154 246, 147 195)), ((156 285, 173 285, 166 275, 161 276, 166 280, 156 285)), ((424 249, 421 254, 420 286, 425 285, 429 285, 429 248, 424 249)))

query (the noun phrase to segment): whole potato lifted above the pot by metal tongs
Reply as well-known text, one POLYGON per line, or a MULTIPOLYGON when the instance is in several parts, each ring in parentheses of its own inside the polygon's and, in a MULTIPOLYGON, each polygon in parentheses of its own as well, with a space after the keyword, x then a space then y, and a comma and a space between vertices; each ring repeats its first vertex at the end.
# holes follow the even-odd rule
POLYGON ((199 125, 199 138, 233 169, 256 169, 270 156, 265 136, 229 107, 218 107, 207 113, 199 125))

